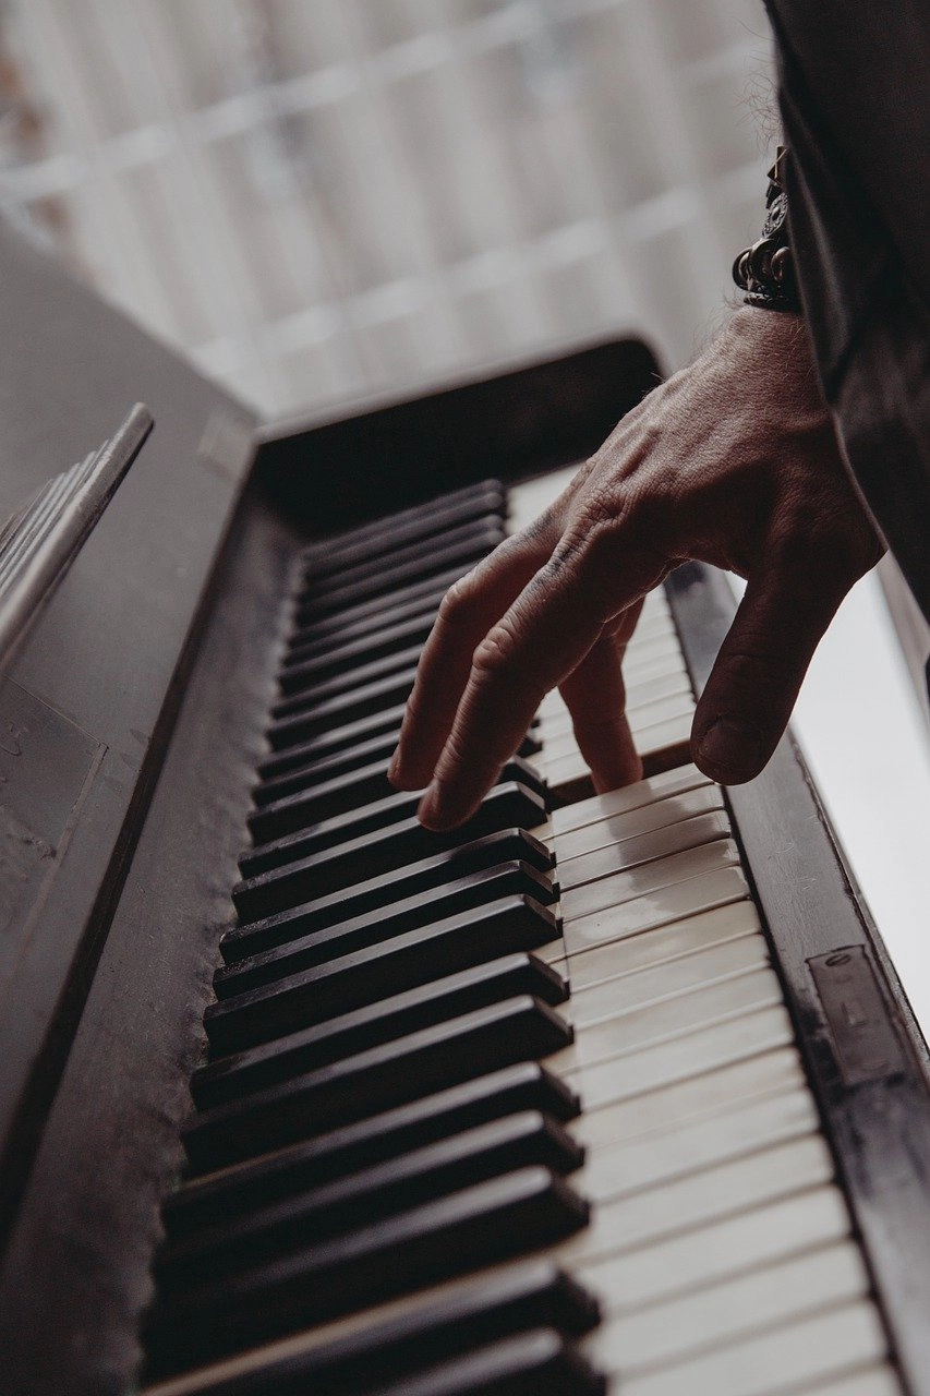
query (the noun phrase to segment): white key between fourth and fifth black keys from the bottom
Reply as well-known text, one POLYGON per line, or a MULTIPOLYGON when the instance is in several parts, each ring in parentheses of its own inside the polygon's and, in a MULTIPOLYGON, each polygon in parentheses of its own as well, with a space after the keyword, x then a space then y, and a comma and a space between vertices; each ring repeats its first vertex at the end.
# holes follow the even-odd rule
MULTIPOLYGON (((765 1015, 769 1016, 768 1011, 765 1015)), ((614 1078, 617 1074, 613 1074, 614 1078)), ((751 1051, 739 1061, 730 1061, 711 1071, 698 1071, 687 1078, 649 1090, 634 1100, 600 1106, 584 1101, 584 1114, 571 1122, 575 1139, 592 1152, 620 1139, 648 1141, 672 1129, 733 1110, 740 1101, 760 1100, 806 1086, 807 1078, 793 1041, 769 1051, 751 1051)), ((616 1083, 616 1090, 621 1083, 616 1083)))

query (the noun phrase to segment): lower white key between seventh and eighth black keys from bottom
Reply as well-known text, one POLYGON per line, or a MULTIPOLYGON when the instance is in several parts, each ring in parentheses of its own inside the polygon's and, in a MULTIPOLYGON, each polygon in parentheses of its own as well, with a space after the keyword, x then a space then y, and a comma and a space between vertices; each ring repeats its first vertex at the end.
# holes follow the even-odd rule
MULTIPOLYGON (((571 956, 573 990, 599 984, 620 974, 635 974, 654 965, 665 965, 683 955, 694 955, 712 945, 751 935, 760 930, 755 906, 750 900, 732 902, 714 912, 701 912, 683 921, 673 921, 656 931, 645 931, 626 941, 610 941, 571 956)), ((559 942, 563 945, 564 942, 559 942)))

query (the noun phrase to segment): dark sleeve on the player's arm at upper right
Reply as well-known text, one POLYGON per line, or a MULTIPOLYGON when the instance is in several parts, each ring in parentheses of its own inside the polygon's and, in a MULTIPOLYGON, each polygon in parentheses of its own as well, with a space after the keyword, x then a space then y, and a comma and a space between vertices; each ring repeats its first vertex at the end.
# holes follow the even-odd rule
POLYGON ((767 0, 821 383, 930 618, 930 6, 767 0))

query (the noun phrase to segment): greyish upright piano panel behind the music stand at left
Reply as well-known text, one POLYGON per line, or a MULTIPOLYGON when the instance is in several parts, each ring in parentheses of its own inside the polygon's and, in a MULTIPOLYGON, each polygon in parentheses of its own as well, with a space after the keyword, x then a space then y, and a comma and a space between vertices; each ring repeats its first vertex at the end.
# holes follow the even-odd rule
POLYGON ((1 225, 0 269, 0 517, 133 402, 156 419, 0 691, 15 764, 0 831, 0 934, 15 945, 0 973, 1 1241, 151 797, 253 420, 1 225), (22 895, 32 854, 40 875, 27 868, 22 895))

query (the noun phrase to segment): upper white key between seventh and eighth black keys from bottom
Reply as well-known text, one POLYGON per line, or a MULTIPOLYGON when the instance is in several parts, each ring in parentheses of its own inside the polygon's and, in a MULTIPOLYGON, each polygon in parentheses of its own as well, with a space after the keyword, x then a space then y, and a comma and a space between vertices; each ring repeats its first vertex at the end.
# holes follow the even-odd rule
MULTIPOLYGON (((610 878, 592 884, 603 888, 607 905, 602 910, 574 916, 564 921, 563 934, 570 956, 575 955, 577 951, 606 945, 627 935, 641 935, 659 926, 680 921, 686 916, 709 912, 714 907, 726 906, 728 902, 741 902, 748 896, 746 875, 736 864, 719 871, 702 872, 686 882, 658 888, 655 892, 634 898, 621 906, 610 903, 612 889, 606 886, 607 882, 610 878)), ((588 892, 589 888, 581 891, 588 892)))

